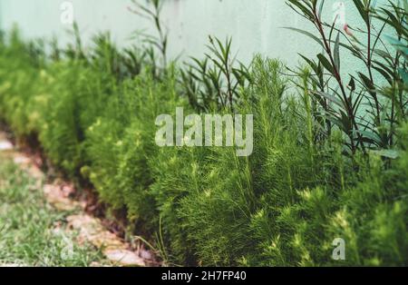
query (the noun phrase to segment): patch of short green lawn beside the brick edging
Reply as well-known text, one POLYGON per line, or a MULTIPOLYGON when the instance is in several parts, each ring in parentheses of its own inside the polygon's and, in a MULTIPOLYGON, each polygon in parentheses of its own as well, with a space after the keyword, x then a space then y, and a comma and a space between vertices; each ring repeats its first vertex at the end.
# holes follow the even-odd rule
POLYGON ((73 231, 65 231, 70 212, 55 211, 38 188, 33 178, 0 153, 0 264, 102 264, 100 251, 79 245, 73 231))

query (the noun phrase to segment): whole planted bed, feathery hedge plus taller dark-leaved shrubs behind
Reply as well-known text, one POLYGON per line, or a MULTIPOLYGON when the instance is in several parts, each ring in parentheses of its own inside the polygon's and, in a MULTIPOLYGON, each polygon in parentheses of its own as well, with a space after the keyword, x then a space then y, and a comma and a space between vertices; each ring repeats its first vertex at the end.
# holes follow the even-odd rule
MULTIPOLYGON (((239 64, 230 39, 210 37, 206 59, 180 66, 168 64, 166 42, 146 52, 161 61, 107 34, 84 49, 74 25, 75 44, 50 55, 11 31, 0 42, 0 117, 17 140, 35 138, 54 174, 91 186, 124 239, 137 236, 165 264, 406 266, 406 48, 378 52, 371 36, 383 35, 372 34, 375 53, 359 54, 350 30, 322 22, 318 1, 289 2, 325 49, 296 69, 261 55, 239 64), (367 71, 342 74, 345 51, 367 71), (253 152, 158 145, 158 116, 178 108, 251 115, 253 152)), ((382 19, 390 10, 404 21, 403 7, 358 3, 368 27, 375 17, 406 41, 403 22, 382 19)))

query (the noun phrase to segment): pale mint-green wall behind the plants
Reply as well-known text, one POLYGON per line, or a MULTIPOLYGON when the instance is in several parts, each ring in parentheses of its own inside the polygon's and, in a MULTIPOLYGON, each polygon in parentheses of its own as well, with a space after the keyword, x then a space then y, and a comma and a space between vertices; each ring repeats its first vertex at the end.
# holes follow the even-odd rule
MULTIPOLYGON (((145 0, 139 0, 145 1, 145 0)), ((284 0, 164 0, 163 19, 170 30, 170 55, 199 55, 205 51, 208 34, 219 38, 233 37, 238 57, 248 62, 261 53, 296 64, 297 53, 315 54, 315 44, 303 35, 282 29, 283 26, 306 28, 309 25, 296 15, 284 0)), ((120 44, 131 44, 132 31, 148 27, 146 21, 132 15, 130 0, 72 0, 74 18, 83 36, 96 31, 111 30, 120 44)), ((361 25, 351 0, 345 3, 346 20, 361 25)), ((378 1, 379 4, 386 0, 378 1)), ((67 40, 69 26, 60 22, 63 0, 0 0, 0 26, 7 30, 17 23, 26 37, 60 38, 67 40)), ((326 15, 332 17, 332 5, 326 1, 326 15)), ((346 59, 343 66, 354 67, 355 60, 346 59)))

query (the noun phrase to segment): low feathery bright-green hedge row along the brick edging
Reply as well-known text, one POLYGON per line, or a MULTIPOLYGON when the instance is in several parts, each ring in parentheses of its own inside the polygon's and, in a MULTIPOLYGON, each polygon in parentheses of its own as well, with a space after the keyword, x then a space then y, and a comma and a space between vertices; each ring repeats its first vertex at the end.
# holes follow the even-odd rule
MULTIPOLYGON (((147 64, 118 76, 109 54, 50 60, 17 32, 0 44, 0 117, 35 135, 53 165, 92 182, 129 232, 145 232, 170 264, 408 265, 408 125, 400 158, 351 159, 333 133, 311 139, 307 100, 282 64, 257 56, 237 113, 254 114, 254 152, 167 147, 156 116, 177 106, 177 67, 160 79, 147 64), (333 241, 345 240, 345 260, 333 241)), ((307 95, 307 94, 306 94, 307 95)))

